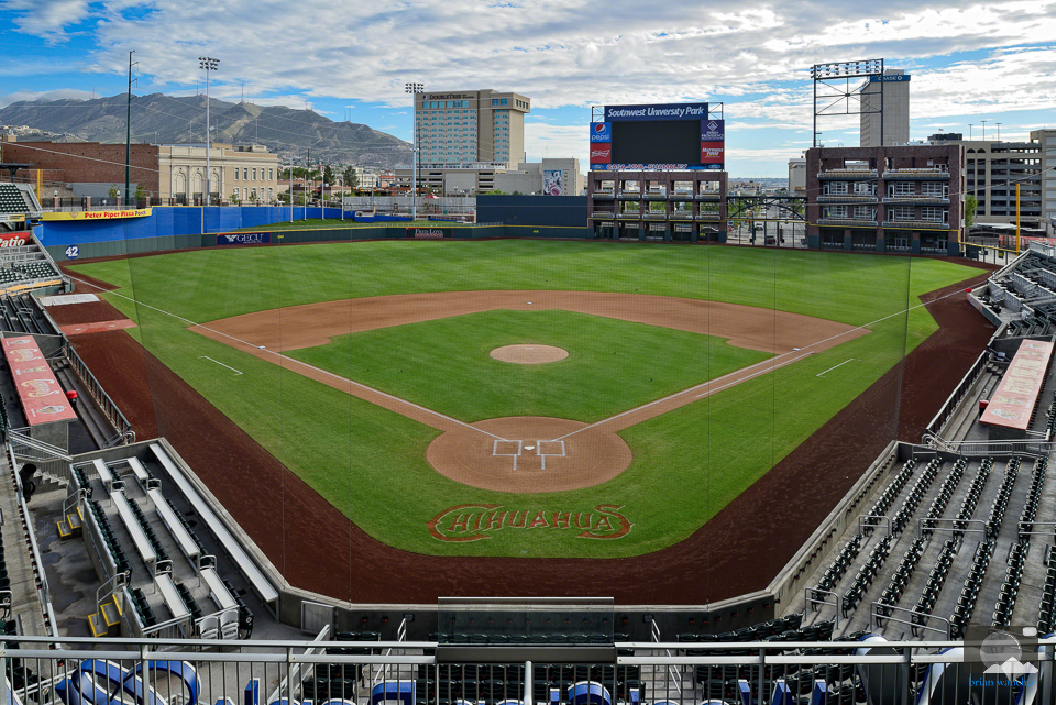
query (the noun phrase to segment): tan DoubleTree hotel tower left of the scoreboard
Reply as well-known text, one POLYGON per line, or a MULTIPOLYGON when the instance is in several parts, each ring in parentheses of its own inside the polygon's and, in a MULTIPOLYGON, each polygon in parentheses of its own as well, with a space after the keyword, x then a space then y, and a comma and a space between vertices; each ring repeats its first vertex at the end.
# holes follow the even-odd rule
POLYGON ((422 165, 525 161, 525 96, 494 90, 415 95, 415 123, 422 165))

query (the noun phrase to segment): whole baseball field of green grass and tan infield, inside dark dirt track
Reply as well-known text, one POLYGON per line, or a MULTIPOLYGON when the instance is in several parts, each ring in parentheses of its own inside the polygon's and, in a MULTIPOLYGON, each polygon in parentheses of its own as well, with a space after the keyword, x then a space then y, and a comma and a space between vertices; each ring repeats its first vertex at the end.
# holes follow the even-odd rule
MULTIPOLYGON (((103 297, 138 326, 121 335, 359 529, 416 554, 507 558, 683 541, 937 330, 922 295, 980 274, 542 241, 215 249, 68 271, 116 287, 103 297)), ((871 421, 897 428, 884 414, 871 421)))

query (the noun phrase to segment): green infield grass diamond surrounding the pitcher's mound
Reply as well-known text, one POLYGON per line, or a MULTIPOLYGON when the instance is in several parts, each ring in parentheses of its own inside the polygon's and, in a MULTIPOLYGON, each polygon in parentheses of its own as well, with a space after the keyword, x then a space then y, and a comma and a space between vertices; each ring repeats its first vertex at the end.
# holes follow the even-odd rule
POLYGON ((561 310, 455 316, 286 354, 470 423, 598 421, 770 356, 721 338, 561 310), (554 345, 569 356, 541 365, 491 357, 513 344, 554 345))

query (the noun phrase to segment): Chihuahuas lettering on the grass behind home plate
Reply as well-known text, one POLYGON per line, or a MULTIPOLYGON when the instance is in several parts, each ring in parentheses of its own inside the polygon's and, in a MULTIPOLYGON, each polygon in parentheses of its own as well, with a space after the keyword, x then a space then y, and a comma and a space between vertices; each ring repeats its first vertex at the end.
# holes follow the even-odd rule
POLYGON ((578 539, 622 539, 631 524, 619 513, 623 505, 597 505, 592 511, 505 509, 497 504, 448 507, 426 525, 439 541, 480 541, 496 531, 578 531, 578 539))

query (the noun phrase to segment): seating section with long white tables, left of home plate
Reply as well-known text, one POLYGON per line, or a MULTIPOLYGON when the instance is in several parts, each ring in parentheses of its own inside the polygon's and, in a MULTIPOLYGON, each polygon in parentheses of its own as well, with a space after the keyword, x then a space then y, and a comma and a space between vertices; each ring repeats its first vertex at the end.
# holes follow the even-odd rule
POLYGON ((177 463, 158 443, 127 450, 125 458, 72 466, 68 499, 82 506, 85 540, 102 581, 90 617, 92 634, 227 640, 248 636, 253 613, 243 598, 246 591, 234 586, 246 580, 233 558, 242 547, 223 547, 223 560, 208 552, 207 544, 219 548, 234 538, 226 529, 216 530, 213 520, 220 522, 215 515, 210 520, 191 509, 191 522, 186 509, 178 508, 194 503, 183 495, 190 483, 177 463), (182 483, 169 482, 174 473, 182 483), (167 488, 177 494, 166 495, 167 488), (202 530, 209 531, 208 540, 199 537, 202 530))

